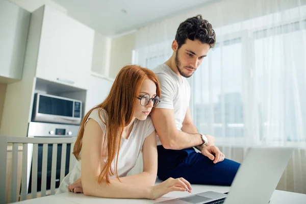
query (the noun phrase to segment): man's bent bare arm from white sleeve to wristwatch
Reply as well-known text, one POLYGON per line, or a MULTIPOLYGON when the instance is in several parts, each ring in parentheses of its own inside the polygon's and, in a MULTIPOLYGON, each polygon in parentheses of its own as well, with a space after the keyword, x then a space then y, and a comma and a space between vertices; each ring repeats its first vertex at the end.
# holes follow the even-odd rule
POLYGON ((185 149, 203 143, 199 133, 190 134, 179 131, 175 126, 174 111, 172 109, 156 108, 151 113, 156 132, 166 149, 185 149))

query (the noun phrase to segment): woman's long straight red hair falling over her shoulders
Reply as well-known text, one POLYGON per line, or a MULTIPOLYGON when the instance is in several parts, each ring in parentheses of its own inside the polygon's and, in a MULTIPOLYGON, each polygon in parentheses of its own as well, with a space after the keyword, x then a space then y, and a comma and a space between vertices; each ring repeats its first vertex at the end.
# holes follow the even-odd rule
MULTIPOLYGON (((118 155, 121 143, 121 135, 125 126, 132 121, 135 104, 139 103, 137 96, 139 94, 141 85, 144 80, 149 79, 156 84, 156 94, 160 97, 160 85, 154 72, 147 68, 138 65, 127 65, 123 67, 113 83, 113 86, 106 97, 106 99, 99 105, 92 108, 83 118, 80 125, 77 141, 75 141, 73 148, 73 155, 77 160, 80 160, 80 151, 82 149, 82 139, 85 129, 85 121, 87 121, 90 113, 94 109, 98 109, 99 117, 100 112, 104 109, 107 112, 108 120, 102 121, 106 124, 106 136, 108 146, 108 158, 98 177, 100 183, 105 177, 107 183, 110 183, 109 174, 116 175, 117 173, 118 155), (111 165, 115 156, 117 155, 116 168, 113 172, 111 165)), ((103 137, 101 135, 101 137, 103 137)), ((120 180, 119 180, 120 181, 120 180)))

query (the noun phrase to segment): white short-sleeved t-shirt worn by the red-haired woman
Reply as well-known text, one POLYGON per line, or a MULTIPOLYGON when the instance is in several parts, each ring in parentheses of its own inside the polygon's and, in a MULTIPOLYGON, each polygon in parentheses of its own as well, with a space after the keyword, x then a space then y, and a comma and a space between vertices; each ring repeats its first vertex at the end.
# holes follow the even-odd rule
MULTIPOLYGON (((108 116, 105 110, 100 112, 100 116, 103 121, 106 121, 108 116)), ((98 116, 98 109, 95 109, 91 112, 88 119, 92 118, 98 122, 103 133, 106 133, 106 125, 101 121, 98 116)), ((88 121, 87 119, 87 121, 88 121)), ((87 122, 86 121, 86 122, 87 122)), ((133 129, 128 139, 121 137, 121 145, 119 149, 118 156, 118 166, 117 172, 119 177, 126 176, 127 172, 129 172, 136 164, 137 158, 139 156, 140 151, 142 150, 142 145, 147 136, 149 136, 154 131, 154 125, 150 116, 145 120, 135 119, 133 129)), ((103 144, 103 152, 102 155, 107 155, 107 136, 104 135, 105 141, 103 144)), ((106 162, 107 157, 104 158, 106 162)), ((115 169, 116 158, 112 162, 112 169, 114 172, 115 169)), ((59 189, 57 190, 57 194, 68 192, 68 185, 77 181, 81 177, 81 160, 76 161, 74 168, 71 172, 69 172, 65 178, 63 179, 59 189)), ((116 177, 115 175, 110 176, 110 178, 116 177)))

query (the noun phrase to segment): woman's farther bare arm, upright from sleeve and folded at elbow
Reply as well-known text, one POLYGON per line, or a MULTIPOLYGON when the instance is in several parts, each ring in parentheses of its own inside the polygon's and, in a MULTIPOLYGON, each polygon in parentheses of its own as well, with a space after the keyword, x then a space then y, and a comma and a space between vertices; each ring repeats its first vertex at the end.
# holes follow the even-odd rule
POLYGON ((156 132, 153 131, 147 136, 142 145, 143 171, 135 175, 120 177, 125 184, 138 186, 153 186, 157 176, 157 147, 156 132))

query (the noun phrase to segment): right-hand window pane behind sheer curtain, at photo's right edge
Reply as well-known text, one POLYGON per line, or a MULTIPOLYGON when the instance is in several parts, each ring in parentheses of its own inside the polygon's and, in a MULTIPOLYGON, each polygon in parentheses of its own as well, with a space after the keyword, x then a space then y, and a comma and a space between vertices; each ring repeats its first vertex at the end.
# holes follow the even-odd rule
POLYGON ((306 127, 306 72, 301 57, 306 55, 300 41, 305 25, 306 20, 254 32, 261 140, 306 141, 302 130, 306 127))

